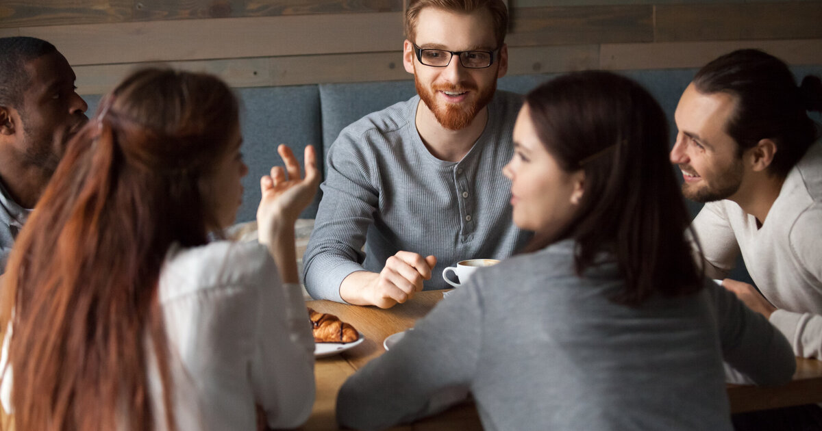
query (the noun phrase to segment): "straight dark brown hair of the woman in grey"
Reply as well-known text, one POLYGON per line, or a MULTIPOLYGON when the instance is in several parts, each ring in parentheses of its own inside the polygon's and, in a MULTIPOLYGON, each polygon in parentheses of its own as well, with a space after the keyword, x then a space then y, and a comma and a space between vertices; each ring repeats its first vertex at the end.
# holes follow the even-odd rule
MULTIPOLYGON (((667 158, 663 109, 639 84, 606 71, 548 81, 525 97, 549 154, 566 172, 584 170, 573 238, 580 276, 601 254, 616 259, 626 285, 615 301, 639 305, 654 294, 702 287, 685 232, 688 210, 667 158)), ((535 238, 529 249, 556 239, 535 238)))

